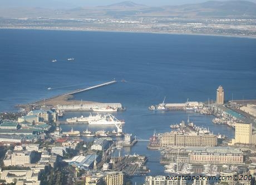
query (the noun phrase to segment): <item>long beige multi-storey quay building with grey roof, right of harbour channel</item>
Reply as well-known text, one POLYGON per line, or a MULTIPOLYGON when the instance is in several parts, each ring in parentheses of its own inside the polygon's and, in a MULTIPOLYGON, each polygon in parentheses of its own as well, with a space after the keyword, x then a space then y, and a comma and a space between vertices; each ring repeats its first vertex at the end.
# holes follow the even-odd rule
POLYGON ((160 136, 160 146, 169 147, 214 147, 217 146, 217 136, 200 134, 198 132, 177 132, 171 131, 162 133, 160 136))

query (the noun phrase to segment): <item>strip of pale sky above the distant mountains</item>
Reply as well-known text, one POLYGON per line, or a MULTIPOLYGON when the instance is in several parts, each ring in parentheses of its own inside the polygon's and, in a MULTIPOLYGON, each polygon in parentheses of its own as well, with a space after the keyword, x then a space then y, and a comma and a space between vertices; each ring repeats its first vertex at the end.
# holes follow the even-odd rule
MULTIPOLYGON (((85 6, 105 6, 124 1, 125 0, 0 0, 0 7, 76 8, 85 6)), ((206 1, 208 0, 132 0, 134 3, 145 4, 147 6, 180 5, 206 1)), ((256 0, 249 1, 256 3, 256 0)))

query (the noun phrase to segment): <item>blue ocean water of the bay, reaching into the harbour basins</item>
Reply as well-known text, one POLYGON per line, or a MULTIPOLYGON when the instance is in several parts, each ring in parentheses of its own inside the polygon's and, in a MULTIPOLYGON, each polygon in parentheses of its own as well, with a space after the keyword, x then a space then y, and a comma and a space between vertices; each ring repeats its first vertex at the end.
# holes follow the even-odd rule
MULTIPOLYGON (((71 32, 53 30, 0 30, 0 111, 67 91, 116 79, 118 82, 75 95, 77 100, 121 102, 127 110, 124 131, 142 139, 170 131, 170 124, 190 120, 214 133, 234 137, 234 130, 213 125, 213 116, 193 112, 148 111, 163 101, 215 100, 222 85, 225 99, 256 99, 256 40, 203 35, 71 32), (67 61, 67 58, 75 58, 67 61), (56 59, 57 62, 51 62, 56 59), (126 82, 122 82, 122 81, 126 82), (47 90, 51 87, 52 90, 47 90)), ((88 115, 67 112, 62 118, 88 115)), ((85 125, 73 125, 84 130, 85 125)), ((71 130, 71 125, 62 125, 71 130)), ((115 127, 88 127, 113 130, 115 127)), ((125 148, 149 156, 152 175, 164 174, 159 151, 147 142, 125 148)), ((143 178, 136 177, 136 182, 143 178)))

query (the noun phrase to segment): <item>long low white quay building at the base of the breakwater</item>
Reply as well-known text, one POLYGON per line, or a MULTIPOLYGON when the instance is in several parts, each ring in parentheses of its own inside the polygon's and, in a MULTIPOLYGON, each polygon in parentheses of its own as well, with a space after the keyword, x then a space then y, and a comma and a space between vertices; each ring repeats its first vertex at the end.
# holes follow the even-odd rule
POLYGON ((91 109, 102 109, 106 107, 115 107, 116 109, 121 109, 122 105, 120 103, 87 103, 79 105, 57 105, 58 110, 70 110, 70 111, 90 111, 91 109))

